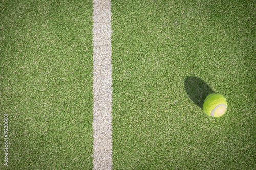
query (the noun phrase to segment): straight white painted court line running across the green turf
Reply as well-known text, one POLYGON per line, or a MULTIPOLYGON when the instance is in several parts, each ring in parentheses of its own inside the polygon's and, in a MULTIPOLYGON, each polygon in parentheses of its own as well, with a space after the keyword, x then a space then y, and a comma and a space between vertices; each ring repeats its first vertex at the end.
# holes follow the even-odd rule
POLYGON ((93 166, 112 169, 111 2, 93 0, 93 166))

